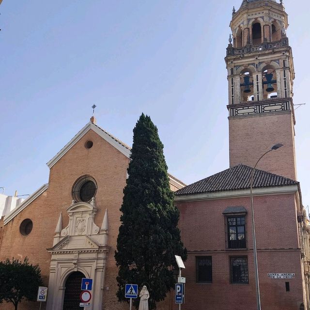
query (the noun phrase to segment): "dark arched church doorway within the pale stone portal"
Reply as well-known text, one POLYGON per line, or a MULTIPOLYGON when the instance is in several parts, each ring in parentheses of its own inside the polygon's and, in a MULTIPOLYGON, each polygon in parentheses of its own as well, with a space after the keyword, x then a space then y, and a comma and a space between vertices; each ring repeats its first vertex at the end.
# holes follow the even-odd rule
POLYGON ((81 272, 75 271, 66 280, 62 310, 81 309, 79 307, 79 295, 81 294, 82 278, 85 276, 81 272))

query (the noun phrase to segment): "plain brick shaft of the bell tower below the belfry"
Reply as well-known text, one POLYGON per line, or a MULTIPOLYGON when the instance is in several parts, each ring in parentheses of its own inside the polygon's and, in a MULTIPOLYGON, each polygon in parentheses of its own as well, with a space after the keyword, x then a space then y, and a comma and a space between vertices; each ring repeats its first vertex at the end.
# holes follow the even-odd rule
POLYGON ((230 118, 229 141, 231 167, 240 163, 253 167, 264 152, 283 143, 279 150, 265 155, 258 168, 296 180, 291 112, 230 118))

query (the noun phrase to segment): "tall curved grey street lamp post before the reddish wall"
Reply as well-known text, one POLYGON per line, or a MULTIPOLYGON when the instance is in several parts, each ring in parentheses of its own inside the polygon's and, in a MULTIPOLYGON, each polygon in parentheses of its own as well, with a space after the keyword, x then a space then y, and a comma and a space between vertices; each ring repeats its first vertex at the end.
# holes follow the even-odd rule
POLYGON ((273 150, 278 150, 282 143, 278 143, 274 145, 270 150, 265 152, 259 160, 256 162, 254 168, 251 172, 251 183, 250 183, 250 196, 251 196, 251 207, 252 207, 252 233, 253 233, 253 256, 254 256, 254 271, 255 271, 255 286, 256 286, 256 302, 257 302, 257 310, 261 310, 261 295, 260 295, 260 284, 258 279, 258 267, 257 267, 257 250, 256 250, 256 235, 255 235, 255 221, 254 221, 254 204, 253 204, 253 177, 257 164, 263 158, 264 155, 268 154, 273 150))

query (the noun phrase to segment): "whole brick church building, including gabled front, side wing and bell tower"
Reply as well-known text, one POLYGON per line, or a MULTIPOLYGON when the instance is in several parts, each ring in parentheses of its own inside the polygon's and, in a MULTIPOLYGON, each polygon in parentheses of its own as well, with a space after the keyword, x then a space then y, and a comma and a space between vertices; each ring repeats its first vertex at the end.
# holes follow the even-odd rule
MULTIPOLYGON (((250 176, 263 310, 309 309, 309 221, 296 181, 292 49, 282 1, 243 0, 226 51, 230 168, 186 186, 170 176, 188 250, 183 310, 256 308, 250 176)), ((114 260, 130 147, 86 124, 48 163, 48 184, 0 220, 0 260, 38 263, 42 309, 74 310, 70 290, 94 280, 93 310, 117 301, 114 260)), ((79 290, 79 288, 78 288, 79 290)), ((157 307, 176 310, 174 292, 157 307)), ((13 309, 0 304, 0 309, 13 309)), ((22 302, 20 310, 39 309, 22 302)))

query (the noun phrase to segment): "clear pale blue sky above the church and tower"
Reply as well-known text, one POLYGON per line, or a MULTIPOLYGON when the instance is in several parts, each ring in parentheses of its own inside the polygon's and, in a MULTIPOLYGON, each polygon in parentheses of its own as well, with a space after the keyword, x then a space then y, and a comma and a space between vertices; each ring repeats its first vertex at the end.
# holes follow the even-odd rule
MULTIPOLYGON (((141 112, 157 125, 169 171, 186 184, 229 167, 225 52, 242 0, 3 0, 0 186, 31 194, 46 163, 92 116, 132 143, 141 112)), ((310 1, 284 0, 296 79, 296 155, 309 181, 310 1)), ((262 150, 262 153, 265 150, 262 150)), ((1 192, 1 191, 0 191, 1 192)))

